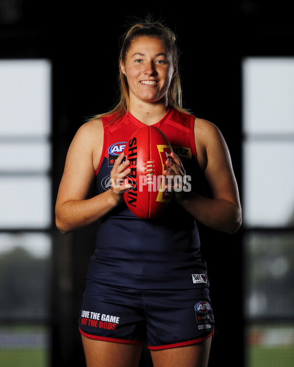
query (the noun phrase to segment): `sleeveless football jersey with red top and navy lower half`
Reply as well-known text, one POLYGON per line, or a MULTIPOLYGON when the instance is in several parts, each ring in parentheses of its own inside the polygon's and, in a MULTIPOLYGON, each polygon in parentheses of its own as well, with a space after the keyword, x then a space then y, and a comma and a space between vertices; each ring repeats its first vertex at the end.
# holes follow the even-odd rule
MULTIPOLYGON (((97 171, 99 193, 110 188, 107 177, 128 139, 146 126, 131 114, 119 122, 109 124, 110 121, 111 116, 102 117, 104 142, 97 171)), ((170 108, 153 125, 169 139, 192 189, 198 184, 194 121, 193 115, 170 108)), ((139 219, 125 203, 120 204, 101 220, 87 278, 135 289, 209 286, 194 218, 173 200, 154 220, 139 219)))

